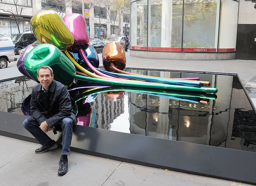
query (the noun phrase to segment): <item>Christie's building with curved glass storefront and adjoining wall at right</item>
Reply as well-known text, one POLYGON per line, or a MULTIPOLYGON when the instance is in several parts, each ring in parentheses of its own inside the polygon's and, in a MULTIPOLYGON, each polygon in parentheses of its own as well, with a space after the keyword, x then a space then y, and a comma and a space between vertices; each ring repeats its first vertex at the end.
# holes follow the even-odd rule
MULTIPOLYGON (((255 14, 250 1, 240 5, 235 0, 131 0, 133 50, 130 55, 182 60, 234 59, 239 50, 237 31, 254 31, 255 14), (250 19, 247 19, 245 10, 251 11, 248 13, 250 19)), ((238 35, 241 44, 249 43, 244 41, 245 34, 238 35)), ((256 47, 254 43, 254 40, 250 43, 252 48, 256 47)))

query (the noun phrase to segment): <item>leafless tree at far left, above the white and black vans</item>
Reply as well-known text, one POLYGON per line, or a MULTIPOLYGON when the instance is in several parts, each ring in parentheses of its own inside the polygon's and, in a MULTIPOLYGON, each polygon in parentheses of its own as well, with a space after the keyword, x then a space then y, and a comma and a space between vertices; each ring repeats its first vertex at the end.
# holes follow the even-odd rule
POLYGON ((32 7, 31 0, 2 0, 0 1, 0 10, 8 12, 14 18, 18 31, 20 33, 19 23, 21 22, 22 11, 26 8, 32 7))

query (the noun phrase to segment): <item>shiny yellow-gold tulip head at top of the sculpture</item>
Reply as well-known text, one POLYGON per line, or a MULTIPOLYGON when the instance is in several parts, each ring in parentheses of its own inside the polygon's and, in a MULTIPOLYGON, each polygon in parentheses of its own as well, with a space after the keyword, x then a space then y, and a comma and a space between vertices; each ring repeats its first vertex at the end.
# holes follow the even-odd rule
POLYGON ((53 10, 39 12, 31 18, 31 28, 39 43, 49 43, 65 51, 74 38, 61 17, 53 10))

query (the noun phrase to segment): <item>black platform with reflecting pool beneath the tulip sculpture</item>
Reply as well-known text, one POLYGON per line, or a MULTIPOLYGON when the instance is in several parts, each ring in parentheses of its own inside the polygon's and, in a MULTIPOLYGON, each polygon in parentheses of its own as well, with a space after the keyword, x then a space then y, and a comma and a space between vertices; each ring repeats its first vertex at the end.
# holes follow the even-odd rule
MULTIPOLYGON (((236 74, 127 71, 166 78, 199 77, 210 81, 218 92, 164 95, 77 82, 69 91, 78 107, 72 151, 256 183, 255 108, 236 74)), ((4 95, 0 101, 1 135, 36 142, 22 127, 35 84, 26 78, 0 84, 4 95)), ((60 134, 49 135, 61 144, 60 134)))

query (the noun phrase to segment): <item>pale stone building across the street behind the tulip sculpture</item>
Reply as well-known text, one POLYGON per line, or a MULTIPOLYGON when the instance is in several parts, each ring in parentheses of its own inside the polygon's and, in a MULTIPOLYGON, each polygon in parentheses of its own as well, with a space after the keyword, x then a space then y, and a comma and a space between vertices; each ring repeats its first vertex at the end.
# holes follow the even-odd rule
MULTIPOLYGON (((0 33, 12 35, 30 31, 30 19, 40 11, 49 9, 57 11, 60 17, 71 13, 82 14, 82 1, 24 0, 17 2, 17 5, 15 5, 13 1, 3 0, 0 2, 0 33), (15 13, 16 8, 19 16, 15 13), (20 18, 19 29, 16 23, 18 18, 20 18)), ((129 34, 130 10, 120 11, 114 17, 106 6, 99 7, 85 4, 85 9, 90 39, 106 39, 111 34, 129 34)))

